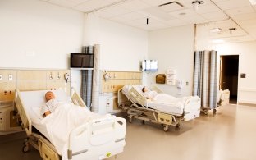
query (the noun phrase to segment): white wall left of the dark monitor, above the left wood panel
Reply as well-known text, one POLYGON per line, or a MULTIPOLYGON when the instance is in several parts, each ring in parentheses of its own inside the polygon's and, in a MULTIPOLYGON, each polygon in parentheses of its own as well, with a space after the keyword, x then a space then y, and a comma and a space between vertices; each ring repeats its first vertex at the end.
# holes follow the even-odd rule
POLYGON ((0 1, 0 67, 67 69, 84 14, 35 0, 0 1))

